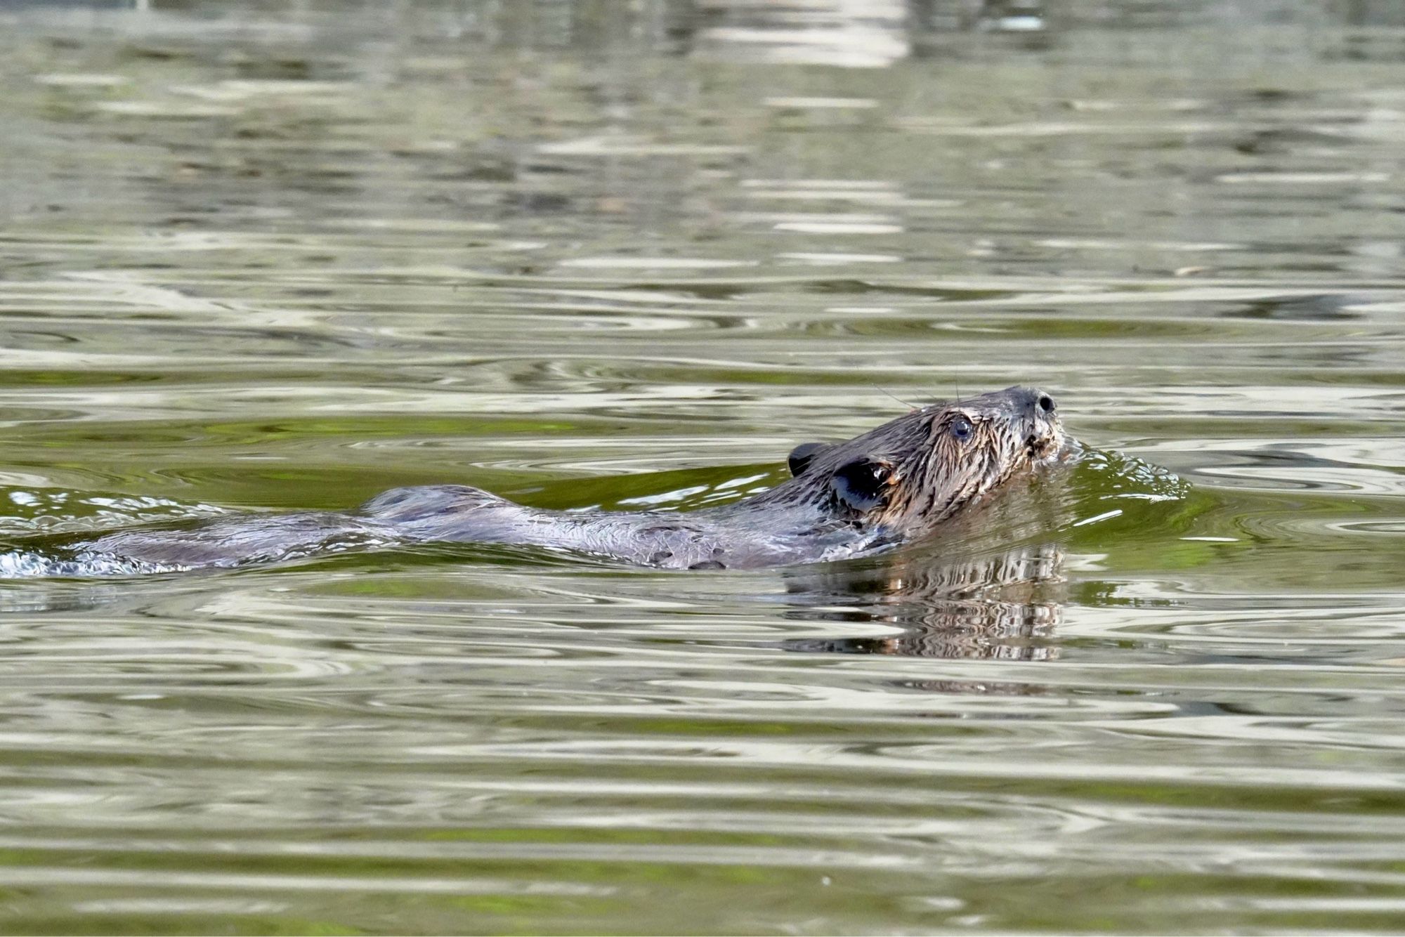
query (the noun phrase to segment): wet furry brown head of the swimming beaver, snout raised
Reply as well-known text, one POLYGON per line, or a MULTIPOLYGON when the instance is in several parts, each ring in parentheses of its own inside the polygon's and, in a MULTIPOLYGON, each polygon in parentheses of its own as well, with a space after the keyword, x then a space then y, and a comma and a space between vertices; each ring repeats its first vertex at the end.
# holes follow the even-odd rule
POLYGON ((821 499, 846 520, 905 534, 950 517, 1064 445, 1054 398, 1033 388, 934 403, 847 443, 791 452, 784 500, 821 499))

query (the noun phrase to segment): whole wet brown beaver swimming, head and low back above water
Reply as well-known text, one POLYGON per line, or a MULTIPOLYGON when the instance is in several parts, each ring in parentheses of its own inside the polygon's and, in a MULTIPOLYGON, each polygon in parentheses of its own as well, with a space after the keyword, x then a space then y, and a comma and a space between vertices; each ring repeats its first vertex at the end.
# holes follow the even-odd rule
POLYGON ((354 546, 523 544, 673 569, 840 559, 924 537, 1064 444, 1054 400, 1009 388, 912 410, 853 440, 791 454, 794 478, 687 514, 548 511, 476 487, 402 487, 355 513, 246 514, 191 530, 131 530, 79 544, 77 558, 152 569, 233 566, 354 546))

